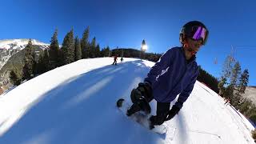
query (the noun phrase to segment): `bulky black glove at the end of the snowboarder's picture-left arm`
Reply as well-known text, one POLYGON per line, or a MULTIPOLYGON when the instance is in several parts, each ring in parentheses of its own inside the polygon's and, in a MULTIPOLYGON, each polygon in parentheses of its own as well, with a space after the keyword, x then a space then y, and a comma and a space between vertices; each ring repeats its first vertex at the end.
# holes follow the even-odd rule
POLYGON ((145 98, 146 102, 152 100, 152 88, 149 82, 140 82, 138 87, 131 91, 130 99, 133 103, 138 102, 141 98, 145 98))

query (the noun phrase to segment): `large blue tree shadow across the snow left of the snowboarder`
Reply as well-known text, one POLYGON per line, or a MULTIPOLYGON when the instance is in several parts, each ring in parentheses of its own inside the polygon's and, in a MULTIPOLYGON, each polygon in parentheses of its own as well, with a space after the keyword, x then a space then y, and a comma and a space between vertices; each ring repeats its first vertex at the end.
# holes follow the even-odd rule
POLYGON ((118 98, 130 98, 149 72, 142 61, 91 70, 50 90, 0 143, 156 143, 161 138, 126 118, 118 98))

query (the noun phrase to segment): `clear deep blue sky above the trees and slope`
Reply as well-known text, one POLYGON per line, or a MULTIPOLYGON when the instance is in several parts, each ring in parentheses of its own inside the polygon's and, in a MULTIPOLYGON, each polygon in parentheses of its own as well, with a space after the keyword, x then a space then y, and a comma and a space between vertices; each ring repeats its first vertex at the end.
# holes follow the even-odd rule
POLYGON ((72 27, 81 38, 90 26, 90 39, 95 36, 101 47, 139 48, 145 38, 148 52, 163 53, 180 46, 178 34, 186 22, 199 20, 210 30, 210 37, 198 53, 198 64, 219 77, 232 45, 242 70, 249 69, 249 85, 256 86, 254 6, 254 0, 6 0, 0 5, 0 39, 34 38, 49 43, 58 28, 62 44, 72 27))

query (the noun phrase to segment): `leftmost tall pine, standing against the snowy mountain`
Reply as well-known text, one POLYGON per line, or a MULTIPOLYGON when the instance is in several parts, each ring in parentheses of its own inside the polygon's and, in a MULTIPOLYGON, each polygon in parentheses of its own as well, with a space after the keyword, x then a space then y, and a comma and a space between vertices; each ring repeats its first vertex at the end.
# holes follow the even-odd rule
POLYGON ((25 57, 24 57, 25 65, 22 69, 22 79, 30 79, 34 74, 34 62, 35 62, 35 53, 34 46, 32 45, 31 39, 25 47, 25 57))

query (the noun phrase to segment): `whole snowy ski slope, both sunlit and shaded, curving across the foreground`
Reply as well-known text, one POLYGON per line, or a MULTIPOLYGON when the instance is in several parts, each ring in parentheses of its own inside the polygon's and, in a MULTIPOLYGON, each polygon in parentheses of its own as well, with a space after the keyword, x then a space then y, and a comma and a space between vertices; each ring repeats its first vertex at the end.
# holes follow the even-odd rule
MULTIPOLYGON (((0 143, 254 143, 250 122, 200 82, 164 123, 166 136, 133 122, 115 102, 130 99, 154 62, 124 60, 82 59, 0 95, 0 143)), ((155 114, 156 102, 150 106, 155 114)))

